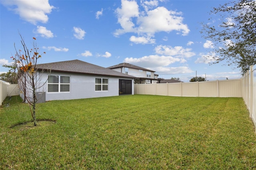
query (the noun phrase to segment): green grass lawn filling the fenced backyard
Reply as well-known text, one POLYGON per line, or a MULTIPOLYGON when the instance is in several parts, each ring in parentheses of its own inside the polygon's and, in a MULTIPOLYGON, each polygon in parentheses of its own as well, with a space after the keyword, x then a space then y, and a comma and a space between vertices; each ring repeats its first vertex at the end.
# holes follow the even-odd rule
MULTIPOLYGON (((7 104, 9 103, 9 104, 7 104)), ((8 106, 8 107, 7 107, 8 106)), ((0 169, 256 169, 256 134, 241 98, 126 95, 0 109, 0 169)))

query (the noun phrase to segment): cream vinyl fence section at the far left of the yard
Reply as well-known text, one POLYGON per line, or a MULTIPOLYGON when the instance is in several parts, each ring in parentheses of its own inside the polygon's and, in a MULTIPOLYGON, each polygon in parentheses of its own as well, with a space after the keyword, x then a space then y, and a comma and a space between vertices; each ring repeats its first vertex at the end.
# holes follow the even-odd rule
POLYGON ((0 92, 0 106, 7 96, 17 96, 20 94, 17 84, 10 85, 2 80, 0 80, 0 92))

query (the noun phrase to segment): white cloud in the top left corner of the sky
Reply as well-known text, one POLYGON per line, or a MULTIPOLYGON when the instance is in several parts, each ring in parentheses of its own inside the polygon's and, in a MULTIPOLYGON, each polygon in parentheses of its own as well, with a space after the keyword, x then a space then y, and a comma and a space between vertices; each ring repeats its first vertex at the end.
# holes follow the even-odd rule
POLYGON ((18 14, 22 20, 34 25, 37 22, 48 22, 47 14, 50 14, 54 9, 48 0, 2 0, 1 2, 9 10, 18 14))

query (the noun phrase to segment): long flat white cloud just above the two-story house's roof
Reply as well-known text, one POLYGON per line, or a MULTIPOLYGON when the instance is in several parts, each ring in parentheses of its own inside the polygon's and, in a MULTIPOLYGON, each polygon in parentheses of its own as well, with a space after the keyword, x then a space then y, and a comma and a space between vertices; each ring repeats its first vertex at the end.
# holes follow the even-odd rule
POLYGON ((180 58, 175 58, 171 56, 164 56, 164 55, 149 55, 144 56, 141 58, 125 58, 125 63, 132 63, 134 65, 140 65, 140 67, 161 67, 161 66, 168 66, 172 63, 181 61, 180 58))

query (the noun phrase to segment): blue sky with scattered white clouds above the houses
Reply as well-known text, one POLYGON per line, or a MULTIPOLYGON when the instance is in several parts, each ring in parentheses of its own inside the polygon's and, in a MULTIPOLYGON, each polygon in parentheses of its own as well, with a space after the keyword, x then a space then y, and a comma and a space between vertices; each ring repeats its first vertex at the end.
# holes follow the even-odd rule
POLYGON ((33 37, 40 63, 79 59, 102 67, 130 63, 156 71, 159 77, 188 82, 240 78, 239 69, 209 65, 204 56, 212 43, 200 34, 200 23, 214 24, 212 7, 224 0, 1 0, 0 72, 33 37), (208 18, 212 17, 212 20, 208 18))

